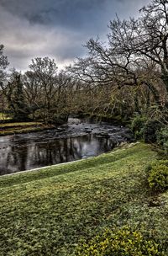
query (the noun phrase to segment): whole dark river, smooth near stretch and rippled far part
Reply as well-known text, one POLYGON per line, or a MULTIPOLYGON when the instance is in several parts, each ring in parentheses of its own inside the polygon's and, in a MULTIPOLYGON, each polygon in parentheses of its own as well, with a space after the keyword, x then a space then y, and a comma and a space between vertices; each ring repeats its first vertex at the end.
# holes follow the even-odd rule
POLYGON ((0 174, 66 163, 108 152, 130 139, 129 131, 71 119, 55 130, 0 137, 0 174))

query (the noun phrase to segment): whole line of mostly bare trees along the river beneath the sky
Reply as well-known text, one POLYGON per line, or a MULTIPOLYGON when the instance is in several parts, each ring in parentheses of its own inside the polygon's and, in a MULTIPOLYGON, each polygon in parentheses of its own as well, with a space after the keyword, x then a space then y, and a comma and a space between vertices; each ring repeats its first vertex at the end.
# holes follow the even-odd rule
POLYGON ((0 108, 13 120, 65 120, 70 113, 129 119, 138 113, 167 124, 168 1, 152 0, 139 18, 116 17, 107 41, 90 39, 87 56, 58 72, 54 60, 35 58, 21 74, 6 72, 0 46, 0 108))

